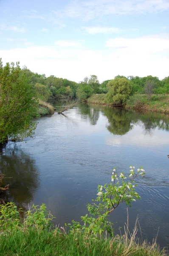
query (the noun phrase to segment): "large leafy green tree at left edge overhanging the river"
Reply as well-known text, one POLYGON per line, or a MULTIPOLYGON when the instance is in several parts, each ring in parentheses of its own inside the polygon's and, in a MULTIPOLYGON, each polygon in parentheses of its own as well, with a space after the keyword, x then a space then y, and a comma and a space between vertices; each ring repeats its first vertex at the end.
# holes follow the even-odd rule
POLYGON ((19 63, 6 64, 0 59, 0 143, 8 138, 23 139, 32 136, 36 128, 30 122, 37 111, 34 87, 21 72, 19 63))

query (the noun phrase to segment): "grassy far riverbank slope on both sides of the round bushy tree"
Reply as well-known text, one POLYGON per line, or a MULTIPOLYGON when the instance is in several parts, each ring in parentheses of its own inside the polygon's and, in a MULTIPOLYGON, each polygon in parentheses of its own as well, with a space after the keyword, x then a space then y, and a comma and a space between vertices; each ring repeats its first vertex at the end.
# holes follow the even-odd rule
MULTIPOLYGON (((113 106, 105 102, 106 94, 93 94, 87 99, 88 103, 113 106)), ((149 102, 145 94, 135 94, 127 100, 125 108, 160 113, 169 113, 169 95, 152 95, 149 102)))

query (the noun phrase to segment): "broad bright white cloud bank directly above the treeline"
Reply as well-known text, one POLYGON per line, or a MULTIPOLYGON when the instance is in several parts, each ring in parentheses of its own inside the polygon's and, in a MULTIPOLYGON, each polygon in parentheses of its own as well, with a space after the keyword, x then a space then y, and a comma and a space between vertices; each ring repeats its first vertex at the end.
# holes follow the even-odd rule
MULTIPOLYGON (((3 62, 20 61, 30 70, 73 81, 96 74, 99 81, 124 76, 169 76, 169 39, 156 37, 107 41, 104 50, 64 47, 25 47, 0 50, 3 62), (125 48, 119 48, 125 47, 125 48), (161 52, 162 51, 162 52, 161 52)), ((62 44, 63 46, 63 44, 62 44)))

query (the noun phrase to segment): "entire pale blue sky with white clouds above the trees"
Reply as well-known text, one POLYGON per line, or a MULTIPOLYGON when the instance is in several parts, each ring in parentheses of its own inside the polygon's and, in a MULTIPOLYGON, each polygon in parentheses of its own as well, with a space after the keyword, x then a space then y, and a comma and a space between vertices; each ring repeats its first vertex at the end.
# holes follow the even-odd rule
POLYGON ((169 0, 0 0, 0 57, 46 76, 169 76, 169 0))

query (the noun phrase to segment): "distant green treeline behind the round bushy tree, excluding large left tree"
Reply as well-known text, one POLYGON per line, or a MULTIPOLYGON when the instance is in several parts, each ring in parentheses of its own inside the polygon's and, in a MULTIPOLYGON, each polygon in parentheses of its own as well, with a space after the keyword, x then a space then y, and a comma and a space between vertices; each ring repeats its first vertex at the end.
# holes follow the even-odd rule
MULTIPOLYGON (((107 84, 111 80, 99 82, 97 76, 91 75, 85 77, 83 81, 76 83, 68 79, 58 78, 54 75, 46 77, 45 74, 31 72, 27 67, 23 67, 22 71, 26 74, 28 81, 35 87, 37 96, 42 100, 48 100, 50 97, 74 97, 79 99, 87 99, 93 93, 107 93, 109 86, 107 84)), ((153 93, 166 94, 169 93, 169 76, 163 80, 156 76, 115 76, 115 78, 124 78, 130 82, 130 95, 135 93, 145 93, 146 83, 152 84, 153 93)))

